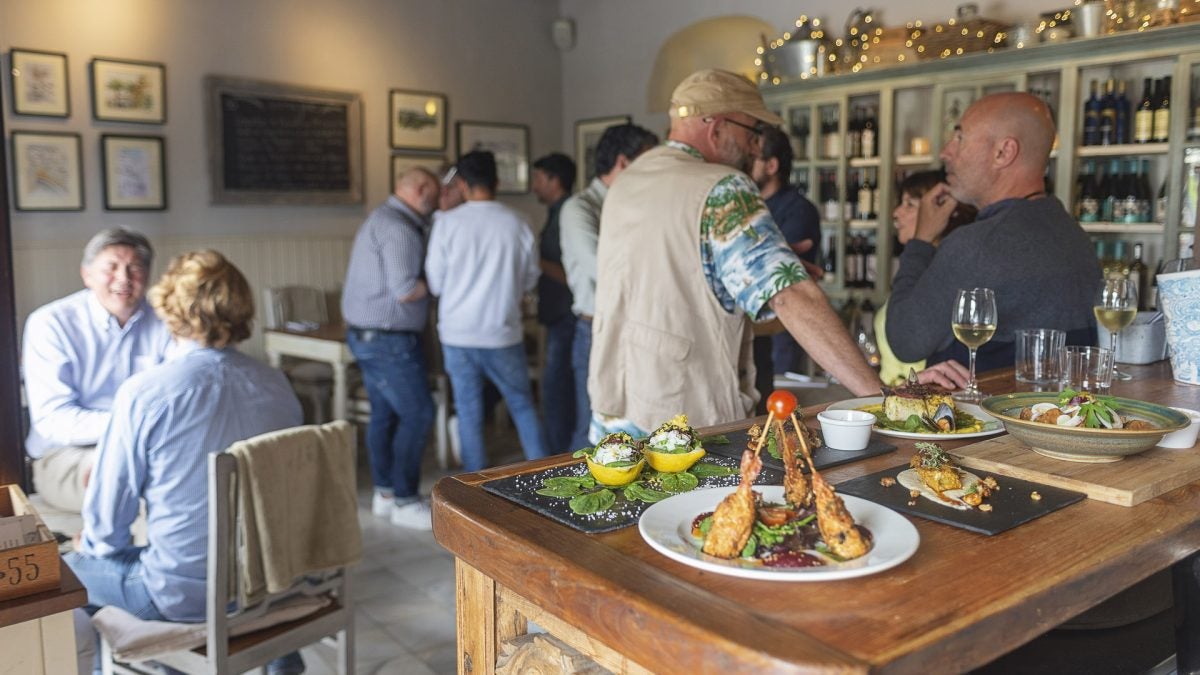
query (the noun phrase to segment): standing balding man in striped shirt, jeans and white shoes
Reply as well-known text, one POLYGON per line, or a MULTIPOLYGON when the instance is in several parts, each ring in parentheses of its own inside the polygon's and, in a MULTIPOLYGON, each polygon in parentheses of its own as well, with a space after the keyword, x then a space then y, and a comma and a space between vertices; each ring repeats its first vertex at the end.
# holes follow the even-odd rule
POLYGON ((376 515, 430 530, 420 498, 421 454, 433 424, 422 333, 428 317, 425 247, 438 207, 438 179, 422 168, 402 173, 395 192, 354 238, 342 291, 346 341, 362 370, 371 422, 367 452, 376 515))

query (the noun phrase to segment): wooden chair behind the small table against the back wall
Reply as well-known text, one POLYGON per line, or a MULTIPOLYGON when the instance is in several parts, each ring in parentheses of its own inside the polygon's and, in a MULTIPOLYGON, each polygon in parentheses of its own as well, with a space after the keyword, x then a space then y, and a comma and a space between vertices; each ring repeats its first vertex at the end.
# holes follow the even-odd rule
MULTIPOLYGON (((288 328, 288 324, 329 323, 325 292, 312 286, 264 288, 263 312, 265 317, 263 325, 268 329, 283 329, 288 328)), ((283 359, 282 370, 292 382, 296 395, 307 404, 311 422, 314 424, 328 422, 334 369, 326 363, 287 357, 283 359)))

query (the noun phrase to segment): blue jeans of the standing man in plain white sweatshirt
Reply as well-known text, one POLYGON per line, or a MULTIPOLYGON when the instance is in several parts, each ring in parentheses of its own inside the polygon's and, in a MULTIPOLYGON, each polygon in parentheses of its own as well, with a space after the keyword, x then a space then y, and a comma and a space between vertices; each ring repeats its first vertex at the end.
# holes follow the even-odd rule
POLYGON ((526 459, 546 456, 546 442, 533 402, 533 388, 529 386, 524 345, 498 350, 443 345, 442 352, 445 356, 446 375, 454 388, 463 468, 482 471, 487 466, 487 454, 484 452, 485 377, 504 396, 509 414, 517 426, 526 459))

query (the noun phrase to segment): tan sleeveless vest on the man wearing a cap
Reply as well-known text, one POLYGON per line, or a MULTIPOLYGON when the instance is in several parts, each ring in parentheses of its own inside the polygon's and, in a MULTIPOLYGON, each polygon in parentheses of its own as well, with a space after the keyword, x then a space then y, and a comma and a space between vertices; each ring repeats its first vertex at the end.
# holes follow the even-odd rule
POLYGON ((757 400, 750 322, 704 280, 700 216, 733 173, 661 145, 629 166, 600 215, 592 410, 652 431, 686 413, 694 426, 749 416, 757 400))

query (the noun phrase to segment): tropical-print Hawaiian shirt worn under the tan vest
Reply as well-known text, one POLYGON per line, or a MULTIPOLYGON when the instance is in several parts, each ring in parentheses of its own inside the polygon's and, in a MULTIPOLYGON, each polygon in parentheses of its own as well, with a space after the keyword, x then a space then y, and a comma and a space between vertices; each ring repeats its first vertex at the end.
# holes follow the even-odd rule
MULTIPOLYGON (((667 141, 667 145, 703 159, 686 143, 667 141)), ((754 321, 770 321, 775 312, 767 301, 809 279, 799 256, 770 217, 758 186, 742 172, 730 173, 713 186, 700 216, 700 232, 704 280, 727 312, 740 307, 754 321)), ((599 443, 614 431, 635 438, 648 435, 629 419, 593 411, 590 442, 599 443)))

